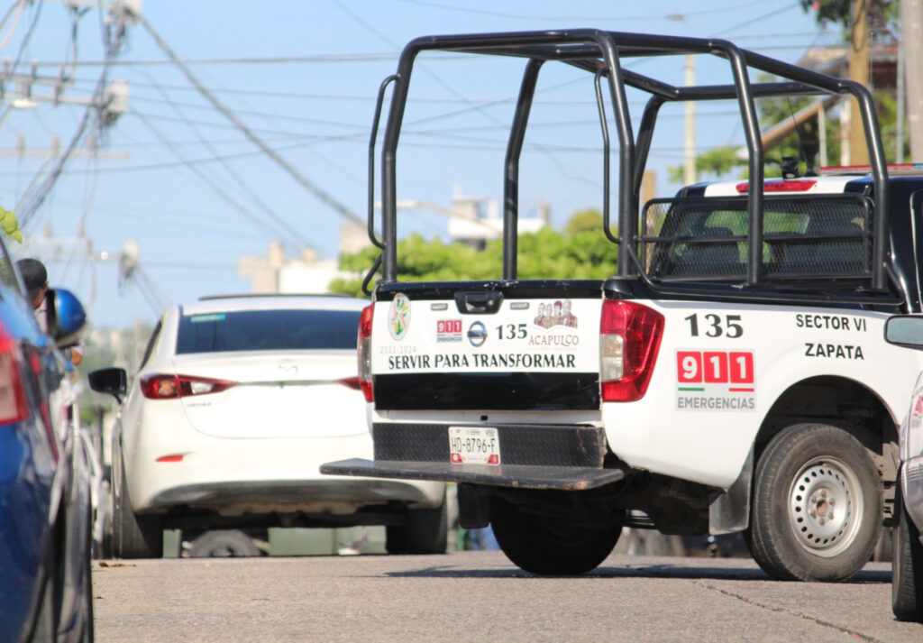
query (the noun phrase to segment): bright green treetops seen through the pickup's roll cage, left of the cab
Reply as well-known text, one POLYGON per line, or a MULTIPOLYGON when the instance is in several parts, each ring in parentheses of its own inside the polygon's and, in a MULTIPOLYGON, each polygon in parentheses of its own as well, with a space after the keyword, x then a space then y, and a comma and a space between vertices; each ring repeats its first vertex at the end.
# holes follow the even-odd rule
MULTIPOLYGON (((617 247, 603 234, 603 215, 596 210, 575 212, 557 232, 545 227, 519 237, 520 279, 605 279, 616 273, 617 247)), ((344 272, 365 276, 378 249, 342 255, 344 272)), ((485 249, 462 243, 444 243, 411 235, 398 242, 398 274, 406 281, 458 281, 499 279, 503 272, 503 244, 489 242, 485 249)), ((380 273, 377 275, 380 278, 380 273)), ((374 283, 374 279, 373 279, 374 283)), ((364 297, 362 279, 338 279, 330 291, 364 297)))

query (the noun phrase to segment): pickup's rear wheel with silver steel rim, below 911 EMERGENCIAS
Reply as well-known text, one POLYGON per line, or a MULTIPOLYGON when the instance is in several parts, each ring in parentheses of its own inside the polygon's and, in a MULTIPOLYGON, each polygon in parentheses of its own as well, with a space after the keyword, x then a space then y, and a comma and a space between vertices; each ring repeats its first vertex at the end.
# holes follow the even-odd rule
POLYGON ((841 581, 869 561, 881 535, 881 479, 852 435, 796 424, 757 464, 745 540, 780 580, 841 581))

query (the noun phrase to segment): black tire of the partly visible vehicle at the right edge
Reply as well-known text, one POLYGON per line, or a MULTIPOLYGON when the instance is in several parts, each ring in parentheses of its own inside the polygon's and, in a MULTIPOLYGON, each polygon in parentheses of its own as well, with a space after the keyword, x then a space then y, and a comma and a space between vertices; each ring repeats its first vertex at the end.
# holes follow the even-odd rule
POLYGON ((900 484, 894 498, 897 525, 893 528, 891 609, 898 621, 923 621, 923 545, 919 531, 907 516, 900 484))

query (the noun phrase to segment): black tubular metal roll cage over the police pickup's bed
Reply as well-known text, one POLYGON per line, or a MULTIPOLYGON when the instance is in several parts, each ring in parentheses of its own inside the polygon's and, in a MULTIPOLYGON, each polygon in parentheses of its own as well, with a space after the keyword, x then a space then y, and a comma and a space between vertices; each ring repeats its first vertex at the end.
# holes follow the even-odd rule
MULTIPOLYGON (((594 29, 519 31, 466 35, 426 36, 408 43, 398 61, 397 73, 386 79, 378 92, 378 105, 369 142, 369 238, 381 248, 383 282, 397 281, 397 146, 401 135, 404 108, 410 87, 414 60, 425 51, 465 54, 503 55, 525 58, 519 97, 509 130, 504 164, 503 194, 503 279, 517 278, 517 222, 519 219, 519 163, 522 143, 531 112, 538 74, 548 61, 560 61, 592 73, 596 79, 596 100, 599 107, 604 140, 604 225, 605 234, 628 252, 618 253, 618 275, 631 276, 635 271, 643 276, 637 262, 634 245, 638 237, 638 209, 641 176, 647 163, 653 138, 653 127, 660 107, 667 102, 737 100, 741 123, 747 142, 749 166, 748 217, 749 256, 746 285, 761 283, 762 277, 762 213, 763 213, 763 149, 755 98, 793 95, 852 95, 859 107, 869 148, 871 174, 874 182, 874 212, 872 213, 872 290, 884 290, 887 274, 884 259, 888 248, 888 186, 887 169, 881 137, 876 123, 875 106, 870 91, 862 85, 820 74, 803 67, 775 60, 737 47, 720 39, 687 38, 594 29), (653 79, 621 66, 624 58, 659 55, 703 54, 724 58, 730 66, 733 84, 678 87, 653 79), (782 79, 751 83, 749 67, 782 79), (601 79, 608 81, 609 100, 614 106, 614 122, 619 145, 618 176, 618 236, 610 231, 609 222, 609 151, 601 79), (378 135, 378 118, 384 92, 393 82, 390 111, 381 149, 381 233, 374 233, 374 153, 378 135), (641 116, 637 137, 634 135, 626 86, 650 94, 641 116)), ((378 262, 377 262, 378 263, 378 262)), ((373 271, 374 272, 374 271, 373 271)), ((366 277, 368 284, 371 273, 366 277)))

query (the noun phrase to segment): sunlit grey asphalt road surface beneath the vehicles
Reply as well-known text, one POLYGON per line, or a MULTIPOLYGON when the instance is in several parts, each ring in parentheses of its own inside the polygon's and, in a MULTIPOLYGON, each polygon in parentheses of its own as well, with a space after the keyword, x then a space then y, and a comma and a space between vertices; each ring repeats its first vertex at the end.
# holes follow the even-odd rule
POLYGON ((908 641, 890 564, 850 583, 770 580, 749 559, 613 555, 537 577, 501 552, 93 564, 98 643, 908 641))

